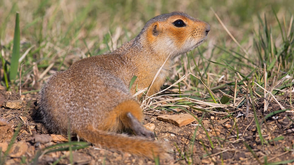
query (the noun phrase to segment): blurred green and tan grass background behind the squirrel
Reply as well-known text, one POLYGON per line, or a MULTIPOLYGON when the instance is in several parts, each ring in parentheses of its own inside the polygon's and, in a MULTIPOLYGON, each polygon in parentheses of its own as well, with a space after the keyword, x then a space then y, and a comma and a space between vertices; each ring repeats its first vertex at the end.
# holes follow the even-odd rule
MULTIPOLYGON (((290 0, 2 0, 2 56, 7 61, 11 58, 16 12, 20 16, 20 55, 28 51, 22 61, 23 74, 26 76, 32 73, 34 62, 40 73, 53 64, 49 72, 36 80, 42 83, 44 77, 56 70, 66 69, 78 59, 115 50, 135 37, 152 17, 181 11, 208 22, 211 26, 207 41, 192 52, 194 57, 202 57, 197 60, 200 69, 205 68, 206 72, 221 76, 220 73, 230 71, 226 68, 220 69, 203 58, 220 63, 222 60, 231 63, 234 59, 236 69, 249 73, 251 70, 244 68, 248 68, 250 64, 239 64, 251 63, 251 67, 255 67, 258 62, 262 64, 262 60, 266 59, 258 57, 260 51, 255 46, 255 41, 263 38, 259 31, 270 30, 274 44, 279 47, 283 42, 282 34, 287 35, 289 29, 293 29, 293 26, 289 28, 293 8, 294 3, 290 0), (212 9, 247 53, 227 34, 212 9), (239 57, 232 58, 232 51, 237 52, 239 57), (243 61, 244 58, 249 58, 250 61, 243 61)), ((185 61, 189 60, 177 61, 184 66, 185 61)), ((27 78, 29 80, 23 80, 23 83, 30 87, 36 78, 27 78)))

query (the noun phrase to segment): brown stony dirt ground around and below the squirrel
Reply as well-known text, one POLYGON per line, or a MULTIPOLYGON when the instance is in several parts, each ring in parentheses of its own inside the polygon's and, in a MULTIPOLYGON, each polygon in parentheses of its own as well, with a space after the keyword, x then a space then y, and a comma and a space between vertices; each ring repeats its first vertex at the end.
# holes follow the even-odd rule
MULTIPOLYGON (((4 156, 4 152, 1 152, 2 162, 4 157, 5 164, 69 164, 70 161, 79 165, 155 164, 153 160, 144 157, 93 145, 77 150, 72 148, 72 151, 68 150, 68 146, 64 146, 61 151, 46 148, 67 143, 67 137, 48 133, 40 121, 35 101, 36 93, 19 96, 19 94, 9 95, 5 90, 1 90, 0 132, 2 135, 0 135, 0 147, 2 147, 2 151, 5 150, 5 147, 7 150, 13 132, 20 126, 16 140, 8 154, 4 156), (5 101, 18 99, 22 99, 20 109, 4 107, 5 101), (51 137, 46 136, 47 134, 51 137), (53 150, 53 152, 46 153, 50 150, 53 150)), ((280 109, 273 102, 264 112, 263 102, 260 100, 255 102, 259 123, 262 122, 262 116, 280 109)), ((215 113, 204 114, 202 124, 206 131, 198 125, 197 121, 178 127, 157 120, 157 116, 162 115, 162 113, 173 115, 173 113, 167 111, 147 110, 144 112, 143 123, 154 123, 157 139, 163 145, 168 146, 170 159, 160 160, 160 164, 264 164, 265 161, 278 162, 294 159, 293 107, 283 106, 286 109, 289 108, 290 111, 268 117, 266 122, 261 125, 265 139, 263 145, 258 136, 251 107, 248 118, 244 118, 245 104, 238 110, 228 109, 228 112, 234 112, 231 117, 215 113), (197 129, 197 132, 192 145, 195 129, 197 129), (237 134, 238 136, 236 136, 237 134), (211 142, 208 137, 210 137, 211 142), (280 137, 280 139, 275 139, 277 137, 280 137)), ((188 110, 198 116, 199 119, 203 115, 203 112, 193 109, 188 110)), ((222 110, 220 109, 220 111, 222 110)), ((179 113, 186 112, 181 111, 179 113)), ((77 138, 72 137, 72 140, 77 140, 77 138)))

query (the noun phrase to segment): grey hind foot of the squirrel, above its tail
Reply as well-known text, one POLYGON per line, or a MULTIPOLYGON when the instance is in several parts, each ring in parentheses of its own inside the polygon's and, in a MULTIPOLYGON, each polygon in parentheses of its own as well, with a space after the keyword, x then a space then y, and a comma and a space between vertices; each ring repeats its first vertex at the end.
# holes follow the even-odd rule
POLYGON ((145 136, 145 137, 151 137, 154 138, 155 135, 153 132, 147 130, 135 116, 133 116, 132 113, 128 112, 127 117, 130 121, 131 129, 135 132, 136 135, 138 136, 145 136))

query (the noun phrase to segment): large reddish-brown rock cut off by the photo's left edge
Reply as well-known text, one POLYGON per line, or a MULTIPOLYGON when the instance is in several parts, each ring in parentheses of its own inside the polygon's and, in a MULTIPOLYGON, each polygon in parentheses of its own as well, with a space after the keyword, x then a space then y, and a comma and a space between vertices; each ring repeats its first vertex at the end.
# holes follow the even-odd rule
POLYGON ((0 117, 0 142, 10 141, 13 136, 11 124, 0 117))

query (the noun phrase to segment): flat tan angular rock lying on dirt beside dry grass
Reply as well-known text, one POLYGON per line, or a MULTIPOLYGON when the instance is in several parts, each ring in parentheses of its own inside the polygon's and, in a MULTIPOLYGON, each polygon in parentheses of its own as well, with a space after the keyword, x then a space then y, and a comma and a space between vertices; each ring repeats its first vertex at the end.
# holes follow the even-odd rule
POLYGON ((188 113, 182 113, 182 114, 176 114, 176 115, 160 115, 160 116, 157 116, 157 119, 164 122, 172 123, 173 125, 176 125, 178 127, 186 126, 196 121, 196 119, 188 113))

